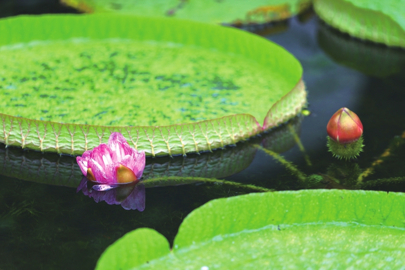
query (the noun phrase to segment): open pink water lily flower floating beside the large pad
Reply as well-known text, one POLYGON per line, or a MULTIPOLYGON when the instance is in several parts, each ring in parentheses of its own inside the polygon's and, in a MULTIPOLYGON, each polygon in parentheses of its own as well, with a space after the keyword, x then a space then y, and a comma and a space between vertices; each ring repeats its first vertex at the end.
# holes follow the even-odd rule
POLYGON ((145 152, 131 148, 119 132, 111 133, 108 144, 100 144, 76 158, 89 180, 103 183, 139 181, 145 169, 145 152))

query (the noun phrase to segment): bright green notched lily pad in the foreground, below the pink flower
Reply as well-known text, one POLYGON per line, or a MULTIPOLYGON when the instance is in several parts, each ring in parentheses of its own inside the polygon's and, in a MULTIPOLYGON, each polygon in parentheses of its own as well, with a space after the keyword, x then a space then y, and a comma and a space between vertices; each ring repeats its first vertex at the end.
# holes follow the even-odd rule
POLYGON ((138 229, 110 245, 96 269, 399 269, 404 210, 403 193, 375 191, 216 199, 185 218, 173 250, 158 232, 138 229))

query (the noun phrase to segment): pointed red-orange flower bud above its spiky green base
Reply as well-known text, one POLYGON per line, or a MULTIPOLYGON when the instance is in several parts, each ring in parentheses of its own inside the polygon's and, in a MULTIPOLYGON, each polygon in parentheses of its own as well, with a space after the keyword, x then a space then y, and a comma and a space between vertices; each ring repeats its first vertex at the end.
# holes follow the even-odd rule
POLYGON ((362 136, 363 124, 353 111, 343 107, 330 118, 326 130, 330 139, 336 143, 347 144, 362 136))

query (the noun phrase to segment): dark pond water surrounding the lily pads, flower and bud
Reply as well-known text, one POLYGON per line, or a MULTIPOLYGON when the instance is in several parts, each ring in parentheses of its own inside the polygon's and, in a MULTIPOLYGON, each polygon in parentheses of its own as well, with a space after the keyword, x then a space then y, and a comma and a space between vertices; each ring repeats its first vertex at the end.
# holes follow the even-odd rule
MULTIPOLYGON (((2 16, 15 14, 9 11, 2 16)), ((325 181, 320 188, 353 188, 350 177, 371 167, 389 149, 373 174, 364 178, 369 183, 364 188, 405 192, 401 182, 405 178, 405 138, 401 138, 405 51, 349 38, 317 17, 305 23, 291 19, 286 31, 266 37, 301 61, 311 114, 236 147, 186 159, 148 159, 145 177, 191 175, 274 190, 302 188, 297 174, 255 147, 262 144, 282 153, 302 173, 322 175, 325 181), (340 107, 353 110, 364 125, 366 146, 355 162, 336 160, 327 152, 326 124, 340 107), (305 151, 296 144, 294 133, 305 151)), ((92 269, 106 247, 131 230, 153 228, 172 242, 179 224, 195 208, 211 199, 257 191, 226 182, 149 183, 145 210, 125 210, 76 193, 81 176, 72 157, 4 145, 0 174, 0 269, 92 269)))

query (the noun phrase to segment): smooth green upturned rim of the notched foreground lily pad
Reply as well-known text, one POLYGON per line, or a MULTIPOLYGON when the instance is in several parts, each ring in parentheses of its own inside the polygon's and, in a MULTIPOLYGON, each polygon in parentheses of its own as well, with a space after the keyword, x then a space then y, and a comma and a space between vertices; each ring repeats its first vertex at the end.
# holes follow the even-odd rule
MULTIPOLYGON (((226 265, 227 260, 221 262, 209 260, 210 252, 216 252, 212 250, 216 241, 220 242, 222 239, 237 237, 240 233, 247 236, 258 230, 277 231, 280 227, 283 229, 288 226, 300 226, 300 224, 303 225, 303 229, 306 226, 326 224, 327 228, 332 231, 333 228, 336 228, 334 232, 338 234, 340 230, 344 232, 349 227, 349 224, 360 226, 364 230, 367 228, 370 230, 375 229, 374 233, 375 231, 383 233, 384 230, 381 230, 383 228, 405 231, 404 202, 405 195, 403 193, 362 190, 281 191, 250 193, 215 199, 197 208, 185 218, 174 239, 173 250, 170 250, 169 242, 163 235, 151 229, 141 228, 127 233, 110 245, 101 255, 96 269, 119 267, 122 269, 135 269, 141 265, 147 266, 152 260, 160 260, 163 257, 166 260, 177 260, 180 263, 185 253, 193 250, 200 252, 204 250, 204 246, 207 244, 210 244, 211 250, 201 254, 202 258, 206 258, 203 260, 204 263, 226 265), (151 239, 154 240, 151 242, 151 239), (133 253, 133 250, 138 252, 133 253)), ((290 233, 294 232, 290 231, 290 233)), ((322 238, 322 236, 319 237, 322 238)), ((243 239, 247 239, 247 237, 243 239)), ((317 239, 315 237, 314 241, 318 241, 317 239)), ((294 243, 294 240, 292 241, 294 243)), ((392 241, 398 240, 394 237, 392 241)), ((260 239, 257 239, 252 244, 257 249, 260 248, 261 243, 260 239)), ((269 244, 277 245, 278 242, 269 244)), ((333 245, 333 243, 330 244, 333 245)), ((350 247, 351 244, 345 242, 346 248, 350 247)), ((371 247, 373 246, 365 244, 365 250, 359 251, 359 253, 375 253, 369 251, 371 247)), ((234 247, 229 246, 229 248, 229 252, 232 250, 235 255, 234 247)), ((261 248, 264 248, 264 246, 261 248)), ((346 248, 342 248, 345 253, 348 252, 346 248)), ((223 252, 223 250, 221 251, 223 252)), ((282 251, 280 250, 280 252, 282 251)), ((305 252, 309 251, 302 252, 306 254, 305 252)), ((322 263, 323 258, 327 258, 326 255, 339 256, 338 253, 339 249, 333 249, 333 246, 320 247, 319 263, 322 263), (322 256, 322 254, 325 256, 322 256)), ((227 257, 225 255, 224 257, 227 257)), ((279 255, 278 253, 277 256, 279 255)), ((298 256, 298 254, 295 255, 298 256)), ((274 256, 276 255, 269 254, 268 259, 275 258, 274 256)), ((229 257, 227 258, 229 259, 229 257)), ((263 258, 261 258, 261 262, 263 262, 263 258)), ((243 262, 239 261, 239 263, 243 262)), ((252 266, 255 265, 255 260, 250 258, 249 262, 246 263, 252 266)), ((303 261, 297 261, 297 263, 303 263, 303 261)), ((310 265, 313 261, 306 263, 310 265)), ((342 261, 342 265, 336 267, 353 266, 355 265, 353 263, 355 261, 342 261)), ((388 266, 391 265, 390 263, 387 260, 386 264, 383 264, 388 266)), ((285 266, 287 265, 285 264, 285 266)), ((291 267, 294 268, 293 266, 291 267)))

